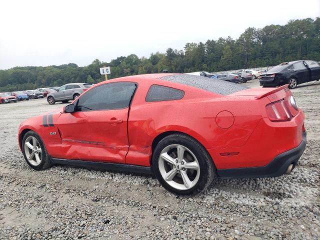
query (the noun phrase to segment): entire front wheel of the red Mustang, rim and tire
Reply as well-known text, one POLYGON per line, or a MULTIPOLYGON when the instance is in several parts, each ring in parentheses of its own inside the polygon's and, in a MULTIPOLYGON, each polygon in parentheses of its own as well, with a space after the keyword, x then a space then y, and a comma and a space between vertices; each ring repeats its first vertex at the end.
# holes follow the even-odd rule
POLYGON ((21 149, 24 159, 33 169, 43 170, 52 165, 43 141, 36 132, 30 130, 24 134, 21 149))

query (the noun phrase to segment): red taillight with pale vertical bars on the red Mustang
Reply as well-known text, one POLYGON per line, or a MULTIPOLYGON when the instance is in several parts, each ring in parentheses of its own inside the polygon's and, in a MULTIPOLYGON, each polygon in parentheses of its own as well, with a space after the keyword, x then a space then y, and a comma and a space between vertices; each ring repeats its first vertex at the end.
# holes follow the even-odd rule
POLYGON ((267 104, 265 109, 271 121, 288 121, 291 119, 291 115, 283 99, 267 104))

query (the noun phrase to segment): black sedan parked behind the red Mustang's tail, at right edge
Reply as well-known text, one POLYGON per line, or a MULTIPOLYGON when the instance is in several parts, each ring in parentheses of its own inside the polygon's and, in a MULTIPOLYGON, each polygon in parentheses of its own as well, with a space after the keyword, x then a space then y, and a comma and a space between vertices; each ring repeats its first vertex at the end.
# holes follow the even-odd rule
POLYGON ((298 84, 319 80, 320 64, 312 60, 282 62, 260 76, 262 87, 289 84, 289 88, 295 88, 298 84))

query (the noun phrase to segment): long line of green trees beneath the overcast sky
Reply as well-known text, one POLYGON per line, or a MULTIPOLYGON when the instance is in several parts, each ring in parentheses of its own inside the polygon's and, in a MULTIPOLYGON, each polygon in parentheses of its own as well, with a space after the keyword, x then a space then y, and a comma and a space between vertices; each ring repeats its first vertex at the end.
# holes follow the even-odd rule
POLYGON ((220 37, 206 42, 188 42, 183 50, 168 48, 147 57, 119 56, 110 62, 95 59, 87 66, 74 63, 25 66, 0 70, 0 92, 60 86, 69 82, 104 80, 99 67, 111 67, 108 78, 168 72, 223 71, 270 66, 298 59, 320 60, 320 18, 290 20, 285 25, 248 27, 237 38, 220 37))

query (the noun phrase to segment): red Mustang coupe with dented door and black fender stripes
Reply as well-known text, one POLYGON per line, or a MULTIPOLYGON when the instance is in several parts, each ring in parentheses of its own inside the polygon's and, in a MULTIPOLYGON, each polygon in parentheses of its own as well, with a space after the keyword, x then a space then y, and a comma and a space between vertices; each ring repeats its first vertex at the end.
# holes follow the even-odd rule
POLYGON ((63 109, 22 122, 18 142, 36 170, 72 164, 153 172, 167 190, 190 194, 216 175, 289 173, 306 132, 287 85, 247 88, 161 73, 95 84, 63 109))

